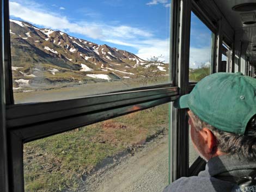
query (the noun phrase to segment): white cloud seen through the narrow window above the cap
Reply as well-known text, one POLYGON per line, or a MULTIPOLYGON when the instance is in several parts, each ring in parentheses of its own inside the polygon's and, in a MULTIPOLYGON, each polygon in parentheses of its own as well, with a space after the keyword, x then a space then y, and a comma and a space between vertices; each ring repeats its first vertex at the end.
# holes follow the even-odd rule
POLYGON ((209 65, 211 60, 211 49, 209 47, 190 47, 190 67, 197 68, 202 65, 209 65))

